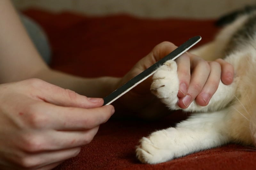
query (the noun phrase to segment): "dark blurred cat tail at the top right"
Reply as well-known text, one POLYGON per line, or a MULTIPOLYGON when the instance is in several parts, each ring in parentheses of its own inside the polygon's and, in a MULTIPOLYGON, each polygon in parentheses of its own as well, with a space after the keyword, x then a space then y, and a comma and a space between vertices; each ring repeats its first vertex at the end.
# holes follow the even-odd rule
POLYGON ((248 5, 245 6, 243 9, 241 10, 237 10, 231 13, 228 13, 222 17, 220 17, 216 22, 215 25, 222 27, 225 25, 228 25, 230 23, 232 23, 233 21, 236 20, 236 18, 238 18, 240 15, 244 15, 244 14, 250 14, 253 11, 256 11, 256 5, 248 5))

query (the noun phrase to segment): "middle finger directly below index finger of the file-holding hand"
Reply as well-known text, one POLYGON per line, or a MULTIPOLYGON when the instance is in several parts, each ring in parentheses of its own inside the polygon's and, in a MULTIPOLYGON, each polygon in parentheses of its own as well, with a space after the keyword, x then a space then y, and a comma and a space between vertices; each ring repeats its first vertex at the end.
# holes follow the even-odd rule
POLYGON ((98 129, 99 126, 84 131, 34 131, 33 134, 24 134, 18 145, 28 153, 75 148, 89 144, 98 129))

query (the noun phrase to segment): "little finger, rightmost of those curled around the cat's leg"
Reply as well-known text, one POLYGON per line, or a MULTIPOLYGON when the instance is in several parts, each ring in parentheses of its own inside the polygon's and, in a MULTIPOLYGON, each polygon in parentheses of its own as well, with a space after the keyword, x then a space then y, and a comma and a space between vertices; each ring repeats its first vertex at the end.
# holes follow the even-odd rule
POLYGON ((234 79, 234 67, 227 61, 223 59, 217 59, 216 62, 220 63, 221 66, 221 81, 229 85, 233 82, 234 79))

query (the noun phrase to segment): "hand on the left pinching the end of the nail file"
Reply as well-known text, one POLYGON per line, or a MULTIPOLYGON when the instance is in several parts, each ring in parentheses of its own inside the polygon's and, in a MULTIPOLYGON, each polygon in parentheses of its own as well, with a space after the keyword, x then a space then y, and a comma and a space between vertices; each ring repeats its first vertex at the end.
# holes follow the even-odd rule
POLYGON ((39 79, 0 84, 1 169, 51 169, 76 156, 114 113, 39 79))

